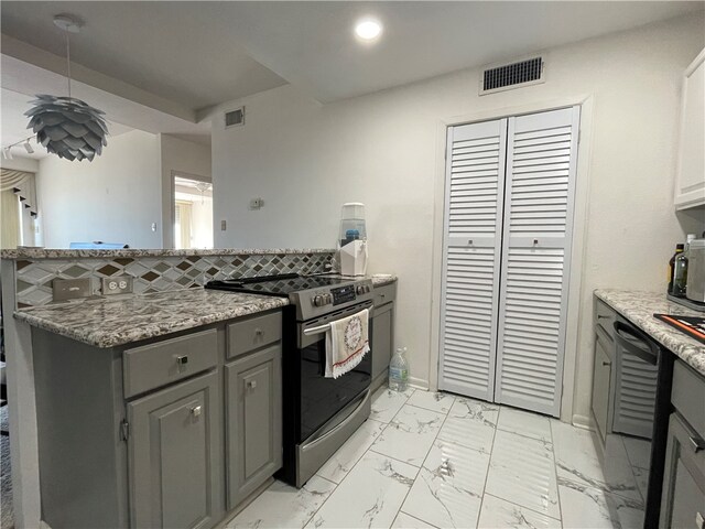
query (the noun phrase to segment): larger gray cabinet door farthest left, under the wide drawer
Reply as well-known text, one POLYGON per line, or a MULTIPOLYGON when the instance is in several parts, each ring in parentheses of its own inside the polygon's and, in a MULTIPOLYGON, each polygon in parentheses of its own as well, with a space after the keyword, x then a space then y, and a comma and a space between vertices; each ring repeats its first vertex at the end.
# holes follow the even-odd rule
POLYGON ((220 516, 217 375, 128 404, 134 528, 205 528, 220 516))

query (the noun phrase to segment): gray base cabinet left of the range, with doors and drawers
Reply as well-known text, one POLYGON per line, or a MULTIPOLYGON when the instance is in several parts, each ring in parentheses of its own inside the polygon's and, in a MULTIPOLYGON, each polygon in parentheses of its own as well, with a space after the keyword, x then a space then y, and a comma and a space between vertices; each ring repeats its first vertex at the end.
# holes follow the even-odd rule
POLYGON ((281 322, 112 348, 33 327, 48 526, 204 529, 231 514, 282 464, 281 322))

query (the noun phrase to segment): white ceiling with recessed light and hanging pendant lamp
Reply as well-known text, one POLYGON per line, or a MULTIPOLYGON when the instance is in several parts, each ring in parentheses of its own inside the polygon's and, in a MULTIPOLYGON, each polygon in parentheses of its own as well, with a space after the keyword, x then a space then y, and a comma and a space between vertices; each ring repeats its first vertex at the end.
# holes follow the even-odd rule
POLYGON ((65 86, 65 35, 52 22, 59 13, 84 22, 70 36, 77 91, 83 86, 127 127, 207 143, 204 109, 286 83, 330 102, 704 9, 703 1, 3 0, 2 144, 25 133, 17 112, 25 107, 14 108, 12 96, 6 104, 6 90, 65 86), (384 25, 372 45, 352 34, 364 15, 384 25))

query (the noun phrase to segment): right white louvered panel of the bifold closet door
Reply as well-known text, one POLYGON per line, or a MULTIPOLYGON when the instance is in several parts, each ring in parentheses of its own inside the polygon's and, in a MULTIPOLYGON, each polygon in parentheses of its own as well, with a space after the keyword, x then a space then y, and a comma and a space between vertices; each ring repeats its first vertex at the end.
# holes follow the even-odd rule
POLYGON ((495 401, 558 417, 579 107, 509 118, 495 401))

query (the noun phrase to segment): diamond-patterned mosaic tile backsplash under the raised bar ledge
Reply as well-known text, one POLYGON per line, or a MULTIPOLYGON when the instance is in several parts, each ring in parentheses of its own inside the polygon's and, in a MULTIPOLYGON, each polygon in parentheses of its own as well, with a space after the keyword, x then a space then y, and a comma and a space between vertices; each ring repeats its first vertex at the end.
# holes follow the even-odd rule
POLYGON ((333 251, 236 253, 216 256, 18 259, 18 309, 52 303, 55 279, 89 278, 94 295, 101 295, 102 278, 131 276, 133 292, 149 294, 200 288, 213 279, 253 278, 274 273, 322 273, 333 267, 333 251))

